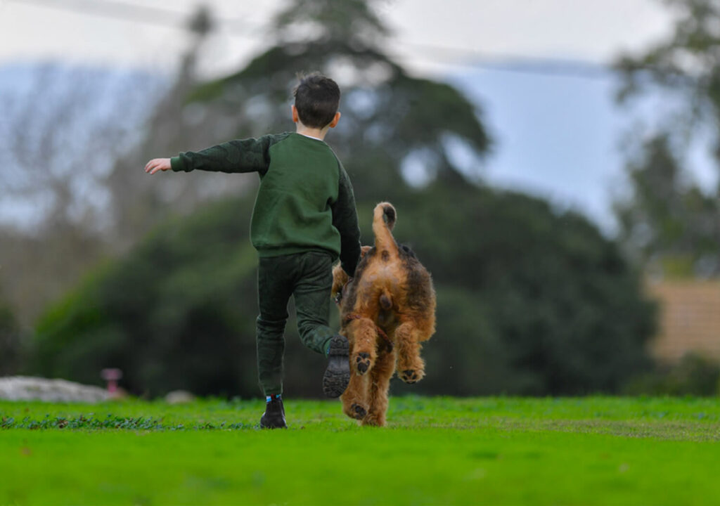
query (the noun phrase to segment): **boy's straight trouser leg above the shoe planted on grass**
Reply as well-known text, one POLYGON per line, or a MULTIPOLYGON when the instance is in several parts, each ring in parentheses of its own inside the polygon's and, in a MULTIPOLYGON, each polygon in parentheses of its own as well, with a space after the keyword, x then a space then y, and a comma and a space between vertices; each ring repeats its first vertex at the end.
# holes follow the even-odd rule
POLYGON ((292 294, 287 259, 260 258, 257 319, 258 379, 264 394, 282 394, 287 302, 292 294))

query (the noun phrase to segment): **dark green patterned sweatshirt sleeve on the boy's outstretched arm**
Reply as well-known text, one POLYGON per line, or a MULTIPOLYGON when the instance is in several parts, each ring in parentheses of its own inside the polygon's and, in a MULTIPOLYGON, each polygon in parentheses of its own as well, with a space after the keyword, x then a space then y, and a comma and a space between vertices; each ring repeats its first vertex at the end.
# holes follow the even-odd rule
POLYGON ((231 140, 202 151, 186 151, 170 159, 173 171, 218 171, 266 173, 272 135, 258 139, 231 140))

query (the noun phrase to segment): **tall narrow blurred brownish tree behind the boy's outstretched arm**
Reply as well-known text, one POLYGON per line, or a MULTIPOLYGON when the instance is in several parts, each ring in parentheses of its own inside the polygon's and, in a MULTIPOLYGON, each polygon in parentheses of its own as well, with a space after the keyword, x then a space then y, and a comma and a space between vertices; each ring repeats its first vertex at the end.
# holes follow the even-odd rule
POLYGON ((197 110, 184 107, 186 96, 199 83, 197 65, 205 43, 215 29, 207 6, 198 6, 186 23, 188 45, 174 83, 158 101, 143 130, 143 137, 131 150, 114 160, 106 180, 112 226, 108 240, 114 250, 125 252, 171 212, 190 212, 199 203, 218 194, 237 192, 247 186, 242 179, 220 174, 189 174, 171 181, 148 179, 142 168, 150 158, 179 150, 216 144, 217 118, 203 121, 197 110), (210 125, 208 125, 208 123, 210 125))

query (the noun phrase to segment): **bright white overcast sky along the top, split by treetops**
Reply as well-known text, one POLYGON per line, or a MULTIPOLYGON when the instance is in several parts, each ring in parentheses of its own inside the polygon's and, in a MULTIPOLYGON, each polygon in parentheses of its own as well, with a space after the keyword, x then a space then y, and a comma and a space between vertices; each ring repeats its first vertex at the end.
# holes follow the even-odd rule
MULTIPOLYGON (((56 59, 146 65, 168 71, 186 44, 179 16, 150 10, 127 19, 117 4, 190 13, 198 0, 0 0, 0 63, 56 59), (89 6, 89 4, 91 4, 89 6), (106 15, 100 15, 100 11, 106 15), (144 19, 145 21, 141 21, 144 19)), ((234 70, 266 45, 263 27, 282 0, 210 0, 226 20, 212 38, 207 73, 234 70)), ((670 26, 658 0, 378 0, 395 30, 390 48, 416 71, 484 57, 570 58, 604 63, 657 40, 670 26), (436 48, 454 48, 445 52, 436 48), (466 53, 467 52, 467 53, 466 53)))

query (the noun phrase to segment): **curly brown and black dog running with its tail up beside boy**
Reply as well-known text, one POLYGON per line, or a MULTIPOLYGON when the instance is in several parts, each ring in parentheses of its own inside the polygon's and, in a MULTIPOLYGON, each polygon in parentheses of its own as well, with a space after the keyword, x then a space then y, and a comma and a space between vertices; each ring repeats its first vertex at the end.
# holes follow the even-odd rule
POLYGON ((420 348, 435 333, 435 290, 415 254, 397 245, 392 204, 377 204, 375 246, 362 248, 355 278, 338 264, 333 295, 341 334, 350 342, 350 384, 341 396, 343 412, 362 425, 385 425, 387 391, 395 371, 405 383, 425 376, 420 348))

